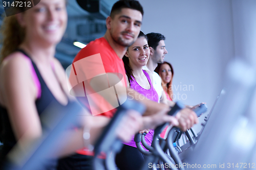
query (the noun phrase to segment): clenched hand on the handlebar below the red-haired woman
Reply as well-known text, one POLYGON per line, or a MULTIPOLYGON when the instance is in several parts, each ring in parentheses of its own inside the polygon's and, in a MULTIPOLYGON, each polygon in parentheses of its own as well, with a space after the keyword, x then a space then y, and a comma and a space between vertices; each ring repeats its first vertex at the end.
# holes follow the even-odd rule
POLYGON ((184 132, 199 122, 197 114, 188 108, 179 111, 176 118, 179 122, 178 127, 184 132))

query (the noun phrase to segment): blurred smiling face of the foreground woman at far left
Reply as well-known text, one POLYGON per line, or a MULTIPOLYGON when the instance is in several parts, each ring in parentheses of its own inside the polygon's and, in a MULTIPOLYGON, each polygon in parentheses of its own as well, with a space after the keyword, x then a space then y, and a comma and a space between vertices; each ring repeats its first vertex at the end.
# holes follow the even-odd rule
POLYGON ((26 36, 39 41, 58 43, 67 27, 65 0, 41 0, 35 7, 22 14, 20 24, 26 36))

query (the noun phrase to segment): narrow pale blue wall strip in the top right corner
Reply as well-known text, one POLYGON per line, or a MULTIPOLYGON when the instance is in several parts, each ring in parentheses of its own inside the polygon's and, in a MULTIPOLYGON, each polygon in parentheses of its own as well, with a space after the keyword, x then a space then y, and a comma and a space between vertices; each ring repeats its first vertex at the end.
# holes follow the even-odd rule
POLYGON ((256 66, 256 1, 233 0, 235 55, 256 66))

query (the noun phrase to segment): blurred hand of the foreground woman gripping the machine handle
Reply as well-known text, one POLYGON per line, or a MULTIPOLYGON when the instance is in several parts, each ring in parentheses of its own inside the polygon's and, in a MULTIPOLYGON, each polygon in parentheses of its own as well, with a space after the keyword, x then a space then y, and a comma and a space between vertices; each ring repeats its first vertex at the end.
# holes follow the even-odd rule
POLYGON ((132 136, 143 129, 142 116, 135 110, 127 111, 116 130, 119 139, 129 142, 132 136))

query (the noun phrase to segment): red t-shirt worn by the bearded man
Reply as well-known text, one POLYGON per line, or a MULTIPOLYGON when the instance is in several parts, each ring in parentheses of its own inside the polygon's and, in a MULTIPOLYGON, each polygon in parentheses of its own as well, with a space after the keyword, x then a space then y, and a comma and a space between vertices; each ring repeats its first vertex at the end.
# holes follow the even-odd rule
MULTIPOLYGON (((91 41, 86 47, 82 48, 82 50, 76 55, 73 61, 73 68, 75 75, 77 75, 77 70, 75 70, 75 63, 77 61, 82 61, 81 59, 87 58, 89 56, 95 55, 96 57, 101 57, 103 67, 104 69, 99 68, 99 66, 96 65, 96 67, 92 67, 94 63, 90 63, 90 65, 87 65, 87 67, 90 67, 90 70, 93 70, 93 74, 100 75, 108 72, 116 72, 119 74, 122 74, 124 78, 123 86, 126 87, 126 75, 125 75, 125 69, 122 59, 120 59, 116 52, 113 50, 113 48, 110 46, 109 42, 106 41, 105 38, 101 37, 99 39, 96 39, 94 41, 91 41), (96 73, 95 73, 96 72, 96 73)), ((81 66, 81 65, 80 65, 81 66)), ((88 106, 87 97, 77 97, 78 100, 85 105, 88 106)), ((100 102, 98 102, 100 103, 100 102)), ((116 109, 101 113, 99 115, 103 115, 106 117, 113 117, 116 109)), ((77 151, 78 154, 84 154, 84 155, 91 155, 86 150, 79 150, 77 151)))

